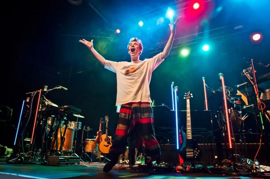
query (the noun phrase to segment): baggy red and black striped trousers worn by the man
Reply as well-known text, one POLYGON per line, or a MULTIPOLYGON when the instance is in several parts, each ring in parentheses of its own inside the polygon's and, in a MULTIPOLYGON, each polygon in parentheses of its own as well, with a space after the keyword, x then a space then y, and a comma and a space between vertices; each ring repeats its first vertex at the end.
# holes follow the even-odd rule
POLYGON ((154 133, 153 111, 150 103, 126 103, 121 106, 116 137, 109 153, 119 156, 126 146, 136 148, 146 161, 159 161, 161 150, 154 133))

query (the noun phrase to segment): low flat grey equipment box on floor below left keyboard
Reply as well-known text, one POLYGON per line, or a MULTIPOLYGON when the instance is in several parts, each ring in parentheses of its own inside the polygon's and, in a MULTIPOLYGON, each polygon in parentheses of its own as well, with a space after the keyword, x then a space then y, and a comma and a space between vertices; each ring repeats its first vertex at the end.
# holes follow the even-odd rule
POLYGON ((48 165, 80 165, 81 157, 73 156, 48 156, 48 165))

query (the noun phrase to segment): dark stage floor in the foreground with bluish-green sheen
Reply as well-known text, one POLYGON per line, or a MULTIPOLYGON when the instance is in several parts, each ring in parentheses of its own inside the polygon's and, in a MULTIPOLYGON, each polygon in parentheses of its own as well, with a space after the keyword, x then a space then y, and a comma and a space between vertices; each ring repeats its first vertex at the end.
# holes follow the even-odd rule
POLYGON ((186 179, 186 178, 243 178, 250 177, 228 176, 223 174, 208 174, 194 172, 160 172, 156 175, 149 175, 143 171, 123 170, 123 165, 116 165, 113 170, 108 173, 102 171, 104 163, 81 163, 73 166, 45 166, 36 164, 7 164, 0 162, 0 178, 1 179, 96 179, 96 178, 155 178, 155 179, 186 179), (119 167, 121 166, 121 169, 119 167))

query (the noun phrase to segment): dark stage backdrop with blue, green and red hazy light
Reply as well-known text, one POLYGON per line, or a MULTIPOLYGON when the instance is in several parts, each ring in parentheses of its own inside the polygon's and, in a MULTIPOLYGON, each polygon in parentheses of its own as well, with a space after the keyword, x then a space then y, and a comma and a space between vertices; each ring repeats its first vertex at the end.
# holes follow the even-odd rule
MULTIPOLYGON (((168 7, 183 17, 169 57, 152 74, 150 93, 155 105, 164 103, 171 107, 173 81, 179 87, 179 110, 186 109, 182 97, 187 90, 194 96, 191 110, 204 110, 203 76, 208 86, 217 90, 218 74, 223 73, 226 86, 234 87, 243 82, 241 72, 249 67, 248 58, 256 63, 270 62, 269 1, 212 0, 199 14, 189 11, 186 5, 168 0, 84 0, 80 5, 69 1, 20 1, 16 8, 14 4, 7 5, 10 13, 2 16, 5 33, 0 105, 13 109, 10 124, 17 127, 21 103, 28 97, 25 93, 44 85, 60 85, 68 90, 51 91, 46 98, 59 106, 81 109, 85 118, 79 121, 82 126, 93 128, 90 136, 96 134, 99 119, 108 115, 109 135, 114 136, 118 120, 116 75, 103 69, 78 41, 93 39, 94 48, 105 59, 129 61, 126 45, 130 37, 137 36, 144 45, 140 59, 150 58, 163 50, 169 37, 169 20, 164 18, 163 23, 157 23, 168 7), (138 26, 139 20, 144 21, 144 26, 138 26), (114 32, 116 28, 120 28, 120 34, 114 32), (253 32, 263 34, 260 43, 250 40, 253 32), (204 42, 210 44, 210 51, 201 50, 204 42), (190 49, 188 57, 179 55, 183 47, 190 49)), ((255 69, 257 76, 270 71, 258 64, 255 69)), ((208 97, 212 95, 208 91, 208 97)), ((7 125, 1 124, 5 138, 1 137, 0 143, 13 148, 15 127, 3 127, 7 125)))

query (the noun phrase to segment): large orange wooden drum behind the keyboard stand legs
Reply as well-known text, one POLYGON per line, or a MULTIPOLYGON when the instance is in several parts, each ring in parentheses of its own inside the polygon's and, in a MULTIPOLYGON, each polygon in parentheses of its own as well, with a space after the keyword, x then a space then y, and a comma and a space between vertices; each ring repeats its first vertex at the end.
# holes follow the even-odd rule
MULTIPOLYGON (((63 127, 62 128, 62 136, 64 134, 64 130, 65 130, 65 128, 63 127)), ((70 128, 66 129, 62 150, 64 150, 64 151, 72 150, 74 131, 75 131, 75 129, 70 129, 70 128)), ((58 136, 57 140, 58 140, 58 150, 59 150, 60 149, 60 128, 58 129, 57 136, 58 136)), ((54 141, 54 137, 52 138, 52 142, 53 141, 54 141)), ((54 142, 53 149, 56 150, 56 140, 54 142)))

